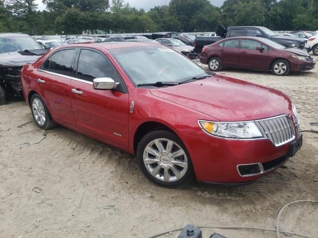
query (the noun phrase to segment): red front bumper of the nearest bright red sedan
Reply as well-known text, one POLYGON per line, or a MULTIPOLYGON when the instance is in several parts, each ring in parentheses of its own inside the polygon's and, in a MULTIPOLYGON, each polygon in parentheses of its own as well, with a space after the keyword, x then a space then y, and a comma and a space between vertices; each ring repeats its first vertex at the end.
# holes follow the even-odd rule
POLYGON ((207 135, 199 130, 182 138, 188 148, 196 179, 209 183, 242 184, 254 181, 286 163, 290 158, 291 144, 275 147, 269 139, 227 140, 207 135), (261 173, 242 176, 239 165, 261 164, 261 173))

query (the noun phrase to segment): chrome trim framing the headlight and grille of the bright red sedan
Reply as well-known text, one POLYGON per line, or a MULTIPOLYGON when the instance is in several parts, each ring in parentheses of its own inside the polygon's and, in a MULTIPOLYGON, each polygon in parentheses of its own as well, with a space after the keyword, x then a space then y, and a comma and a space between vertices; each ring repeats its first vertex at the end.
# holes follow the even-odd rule
MULTIPOLYGON (((264 121, 264 120, 270 120, 270 119, 276 119, 276 118, 280 118, 280 117, 288 117, 290 120, 291 118, 286 115, 286 114, 282 114, 282 115, 279 115, 279 116, 275 116, 275 117, 271 117, 271 118, 264 118, 264 119, 257 119, 257 120, 244 120, 244 121, 212 121, 212 120, 201 120, 201 119, 198 119, 198 124, 200 126, 200 128, 203 130, 204 133, 206 133, 207 135, 209 136, 212 136, 212 137, 215 137, 215 138, 219 138, 219 139, 225 139, 225 140, 245 140, 245 141, 250 141, 250 140, 269 140, 271 141, 267 135, 265 134, 265 131, 262 129, 262 127, 259 125, 259 121, 264 121), (233 137, 221 137, 221 136, 217 136, 217 135, 213 135, 213 134, 210 134, 209 132, 207 132, 203 127, 202 125, 200 124, 200 121, 204 121, 204 122, 212 122, 212 123, 243 123, 243 122, 254 122, 257 126, 257 128, 260 130, 260 132, 263 134, 263 137, 256 137, 256 138, 233 138, 233 137)), ((291 120, 292 122, 292 120, 291 120)), ((292 123, 293 125, 293 123, 292 123)), ((282 146, 282 145, 285 145, 291 141, 293 141, 296 136, 295 136, 295 128, 294 126, 292 126, 292 138, 287 140, 287 141, 284 141, 278 145, 275 145, 274 143, 271 143, 275 146, 275 147, 279 147, 279 146, 282 146)))

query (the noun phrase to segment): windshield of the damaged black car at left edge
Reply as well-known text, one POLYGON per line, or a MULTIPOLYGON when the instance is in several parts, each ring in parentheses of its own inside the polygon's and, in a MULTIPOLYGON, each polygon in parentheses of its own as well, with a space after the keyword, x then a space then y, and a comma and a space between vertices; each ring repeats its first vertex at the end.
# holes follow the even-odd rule
POLYGON ((0 37, 0 54, 25 50, 43 50, 31 37, 0 37))

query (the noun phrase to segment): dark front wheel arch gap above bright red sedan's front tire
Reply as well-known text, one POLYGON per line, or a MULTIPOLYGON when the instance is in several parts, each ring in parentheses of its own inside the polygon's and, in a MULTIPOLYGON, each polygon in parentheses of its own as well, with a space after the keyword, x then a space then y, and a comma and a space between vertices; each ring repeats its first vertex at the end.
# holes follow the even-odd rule
POLYGON ((137 147, 138 147, 140 140, 147 133, 154 131, 154 130, 167 130, 167 131, 170 131, 178 136, 178 134, 173 129, 171 129, 169 126, 167 126, 163 123, 160 123, 160 122, 154 121, 154 120, 145 121, 138 126, 138 128, 136 129, 135 134, 134 134, 133 146, 134 146, 135 153, 137 151, 137 147))

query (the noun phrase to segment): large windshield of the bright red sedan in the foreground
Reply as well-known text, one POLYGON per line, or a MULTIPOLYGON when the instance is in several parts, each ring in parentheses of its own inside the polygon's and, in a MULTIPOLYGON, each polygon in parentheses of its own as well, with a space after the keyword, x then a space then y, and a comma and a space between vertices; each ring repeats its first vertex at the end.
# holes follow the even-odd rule
POLYGON ((182 82, 197 76, 211 76, 196 63, 162 46, 129 47, 109 50, 136 85, 182 82))

